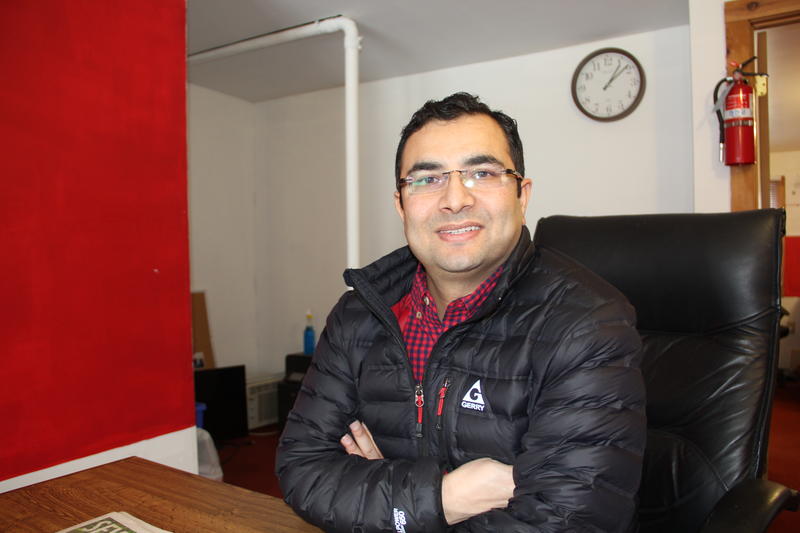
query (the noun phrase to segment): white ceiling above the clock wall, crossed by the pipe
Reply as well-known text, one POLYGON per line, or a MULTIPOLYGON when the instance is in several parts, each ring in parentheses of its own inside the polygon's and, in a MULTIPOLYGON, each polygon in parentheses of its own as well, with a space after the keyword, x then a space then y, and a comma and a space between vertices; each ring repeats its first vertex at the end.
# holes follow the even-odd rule
MULTIPOLYGON (((188 0, 189 54, 344 15, 361 81, 689 23, 687 0, 188 0)), ((192 83, 251 102, 344 84, 341 34, 192 65, 192 83)))

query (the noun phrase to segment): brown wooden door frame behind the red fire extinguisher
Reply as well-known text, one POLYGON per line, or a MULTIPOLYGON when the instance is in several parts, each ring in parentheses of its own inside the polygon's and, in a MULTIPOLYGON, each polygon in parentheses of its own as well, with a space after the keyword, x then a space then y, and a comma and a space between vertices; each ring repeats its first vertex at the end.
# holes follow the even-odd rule
MULTIPOLYGON (((755 55, 754 32, 784 24, 800 22, 800 0, 735 0, 725 2, 725 40, 730 61, 745 61, 755 55)), ((763 63, 762 63, 763 64, 763 63)), ((761 66, 756 65, 761 70, 761 66)), ((733 67, 728 65, 728 74, 733 67)), ((764 101, 766 107, 766 100, 764 101)), ((731 171, 731 211, 758 209, 769 206, 769 158, 763 151, 769 149, 768 116, 759 113, 756 121, 756 138, 759 139, 759 153, 762 175, 759 177, 757 165, 735 165, 731 171), (762 130, 762 121, 764 121, 762 130), (763 150, 763 151, 762 151, 763 150), (767 199, 765 202, 764 199, 767 199)))

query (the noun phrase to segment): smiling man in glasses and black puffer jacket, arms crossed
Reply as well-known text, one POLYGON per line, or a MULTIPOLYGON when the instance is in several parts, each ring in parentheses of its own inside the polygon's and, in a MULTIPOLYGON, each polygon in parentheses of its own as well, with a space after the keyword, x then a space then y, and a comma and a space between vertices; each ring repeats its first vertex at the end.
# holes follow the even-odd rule
POLYGON ((626 531, 645 438, 634 312, 531 244, 516 122, 457 93, 402 132, 408 246, 345 272, 281 437, 326 531, 626 531))

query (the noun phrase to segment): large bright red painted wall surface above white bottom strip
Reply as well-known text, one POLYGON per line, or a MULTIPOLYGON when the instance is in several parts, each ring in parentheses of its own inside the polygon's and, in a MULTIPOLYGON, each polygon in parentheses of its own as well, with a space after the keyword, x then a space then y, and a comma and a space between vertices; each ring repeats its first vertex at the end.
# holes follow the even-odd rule
POLYGON ((0 2, 0 479, 193 425, 182 0, 0 2))

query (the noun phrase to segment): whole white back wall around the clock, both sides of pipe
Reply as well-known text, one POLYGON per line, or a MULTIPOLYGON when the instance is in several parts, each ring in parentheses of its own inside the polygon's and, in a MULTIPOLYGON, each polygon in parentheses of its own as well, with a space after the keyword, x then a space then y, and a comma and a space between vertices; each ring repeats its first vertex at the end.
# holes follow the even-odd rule
MULTIPOLYGON (((361 85, 361 262, 402 246, 392 206, 400 129, 425 100, 480 95, 516 118, 533 178, 528 225, 551 214, 691 212, 692 95, 689 28, 582 44, 361 85), (574 106, 577 64, 606 46, 642 63, 639 108, 612 123, 574 106)), ((712 86, 713 88, 713 86, 712 86)), ((318 331, 345 290, 344 93, 341 88, 257 104, 257 332, 264 371, 298 351, 305 309, 318 331)))

